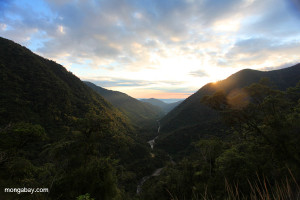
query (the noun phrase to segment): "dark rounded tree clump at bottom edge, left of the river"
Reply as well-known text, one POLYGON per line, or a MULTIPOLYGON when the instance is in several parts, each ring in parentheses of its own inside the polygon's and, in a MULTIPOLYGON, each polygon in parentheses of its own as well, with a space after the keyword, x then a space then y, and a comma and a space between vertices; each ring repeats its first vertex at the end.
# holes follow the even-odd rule
MULTIPOLYGON (((119 199, 116 172, 109 159, 90 157, 80 163, 66 166, 52 188, 54 199, 75 198, 89 192, 96 199, 119 199)), ((78 162, 78 161, 77 161, 78 162)))

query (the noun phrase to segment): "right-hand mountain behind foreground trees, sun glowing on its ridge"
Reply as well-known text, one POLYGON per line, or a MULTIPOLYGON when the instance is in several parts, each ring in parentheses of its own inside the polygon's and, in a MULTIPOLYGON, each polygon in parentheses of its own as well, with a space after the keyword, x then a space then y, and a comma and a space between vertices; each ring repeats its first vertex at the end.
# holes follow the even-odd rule
POLYGON ((177 152, 187 148, 199 135, 221 134, 223 125, 217 113, 203 105, 201 99, 218 90, 230 93, 256 83, 263 77, 280 90, 293 87, 300 80, 300 64, 267 72, 244 69, 225 80, 206 84, 160 120, 162 135, 158 145, 177 152))

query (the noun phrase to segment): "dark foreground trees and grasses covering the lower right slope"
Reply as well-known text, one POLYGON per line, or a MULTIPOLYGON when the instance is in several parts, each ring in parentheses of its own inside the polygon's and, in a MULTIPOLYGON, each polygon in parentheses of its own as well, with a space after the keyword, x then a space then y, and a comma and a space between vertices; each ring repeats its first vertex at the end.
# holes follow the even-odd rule
POLYGON ((300 83, 282 92, 262 80, 203 102, 231 127, 227 137, 193 143, 144 185, 142 199, 300 198, 300 83))

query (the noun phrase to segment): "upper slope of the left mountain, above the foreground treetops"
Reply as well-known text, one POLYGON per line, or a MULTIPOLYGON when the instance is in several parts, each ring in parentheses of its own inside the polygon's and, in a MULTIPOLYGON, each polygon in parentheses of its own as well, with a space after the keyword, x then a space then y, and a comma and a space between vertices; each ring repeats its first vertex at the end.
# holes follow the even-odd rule
POLYGON ((45 127, 95 114, 125 128, 121 114, 63 66, 0 39, 0 125, 26 121, 45 127))

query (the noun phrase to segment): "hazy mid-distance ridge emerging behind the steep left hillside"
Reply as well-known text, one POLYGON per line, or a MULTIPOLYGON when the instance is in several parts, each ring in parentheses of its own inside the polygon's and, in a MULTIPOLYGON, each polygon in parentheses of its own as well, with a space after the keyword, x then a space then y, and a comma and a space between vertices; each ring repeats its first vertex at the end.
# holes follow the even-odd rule
POLYGON ((159 107, 140 102, 125 93, 107 90, 90 82, 85 82, 85 84, 115 107, 119 108, 137 126, 149 123, 156 125, 156 120, 160 119, 163 115, 163 111, 159 107))

